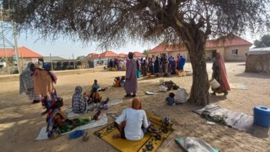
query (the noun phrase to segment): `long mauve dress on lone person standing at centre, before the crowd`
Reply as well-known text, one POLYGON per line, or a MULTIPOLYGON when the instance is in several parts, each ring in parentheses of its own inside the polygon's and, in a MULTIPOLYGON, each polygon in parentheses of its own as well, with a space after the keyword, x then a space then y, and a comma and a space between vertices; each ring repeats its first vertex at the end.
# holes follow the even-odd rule
POLYGON ((136 61, 134 59, 127 61, 127 70, 125 72, 125 91, 127 94, 136 93, 138 91, 136 67, 136 61))

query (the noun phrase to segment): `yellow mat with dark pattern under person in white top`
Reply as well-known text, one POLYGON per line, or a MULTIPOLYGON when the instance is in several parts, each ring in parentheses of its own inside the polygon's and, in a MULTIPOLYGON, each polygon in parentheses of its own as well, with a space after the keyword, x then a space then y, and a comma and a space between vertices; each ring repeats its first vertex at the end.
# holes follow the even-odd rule
POLYGON ((145 134, 143 139, 140 141, 129 141, 121 138, 114 139, 112 136, 119 133, 114 126, 114 123, 109 124, 100 131, 97 131, 95 135, 100 137, 102 140, 105 140, 105 142, 108 142, 111 144, 111 146, 114 146, 114 148, 118 149, 119 151, 156 151, 156 149, 161 146, 165 138, 172 133, 172 124, 170 123, 170 126, 168 126, 168 129, 166 130, 161 126, 162 120, 159 117, 155 117, 147 113, 147 118, 151 120, 156 129, 163 132, 162 136, 150 136, 145 134))

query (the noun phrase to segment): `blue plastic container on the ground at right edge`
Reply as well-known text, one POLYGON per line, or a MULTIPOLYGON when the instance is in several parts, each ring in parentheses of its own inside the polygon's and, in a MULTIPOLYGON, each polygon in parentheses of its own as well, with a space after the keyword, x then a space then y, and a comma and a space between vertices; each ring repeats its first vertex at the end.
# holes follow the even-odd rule
POLYGON ((254 122, 258 126, 270 127, 270 108, 255 106, 253 108, 254 122))

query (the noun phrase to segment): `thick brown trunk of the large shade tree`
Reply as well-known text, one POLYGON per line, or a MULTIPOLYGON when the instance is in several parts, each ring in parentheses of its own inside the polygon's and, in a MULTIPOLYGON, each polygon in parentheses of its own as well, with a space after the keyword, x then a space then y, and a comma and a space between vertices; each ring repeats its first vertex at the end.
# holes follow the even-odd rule
POLYGON ((188 49, 193 70, 192 88, 188 102, 199 106, 209 104, 209 83, 206 70, 205 44, 206 39, 196 39, 196 44, 190 44, 188 49), (198 41, 199 40, 199 41, 198 41))

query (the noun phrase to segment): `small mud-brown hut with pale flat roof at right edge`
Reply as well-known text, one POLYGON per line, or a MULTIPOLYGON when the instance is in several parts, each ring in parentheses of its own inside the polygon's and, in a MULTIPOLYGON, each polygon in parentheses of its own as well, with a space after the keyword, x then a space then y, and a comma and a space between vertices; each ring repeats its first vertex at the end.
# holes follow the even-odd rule
POLYGON ((246 72, 270 72, 270 47, 246 51, 246 72))

